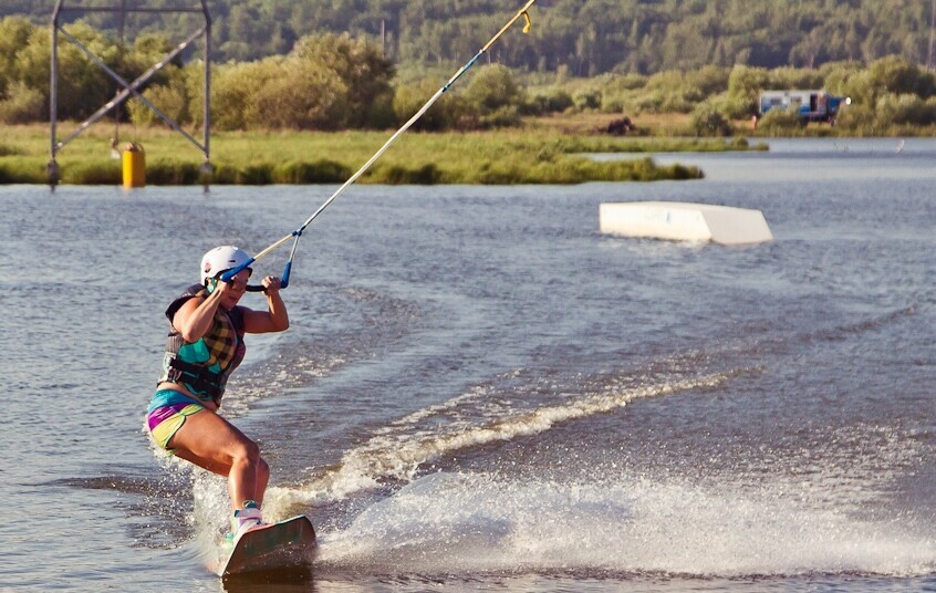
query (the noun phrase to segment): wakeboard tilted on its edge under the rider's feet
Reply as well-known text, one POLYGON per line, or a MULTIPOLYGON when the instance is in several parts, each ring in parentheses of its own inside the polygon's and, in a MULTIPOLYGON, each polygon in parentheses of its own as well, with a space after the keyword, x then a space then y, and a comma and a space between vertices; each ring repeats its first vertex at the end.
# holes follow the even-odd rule
POLYGON ((304 514, 251 529, 240 537, 218 574, 237 574, 299 569, 309 565, 315 552, 315 530, 304 514))

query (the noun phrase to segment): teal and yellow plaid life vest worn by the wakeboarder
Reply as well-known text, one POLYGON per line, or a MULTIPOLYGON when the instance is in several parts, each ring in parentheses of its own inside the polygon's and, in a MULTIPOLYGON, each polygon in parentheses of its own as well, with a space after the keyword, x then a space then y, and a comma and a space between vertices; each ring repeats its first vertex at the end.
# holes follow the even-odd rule
POLYGON ((196 296, 206 298, 208 291, 200 284, 193 284, 166 309, 169 335, 159 383, 183 385, 199 399, 218 403, 225 393, 228 376, 243 361, 247 352, 243 343, 243 308, 238 305, 225 311, 219 306, 208 332, 195 342, 186 342, 173 325, 173 319, 186 301, 196 296))

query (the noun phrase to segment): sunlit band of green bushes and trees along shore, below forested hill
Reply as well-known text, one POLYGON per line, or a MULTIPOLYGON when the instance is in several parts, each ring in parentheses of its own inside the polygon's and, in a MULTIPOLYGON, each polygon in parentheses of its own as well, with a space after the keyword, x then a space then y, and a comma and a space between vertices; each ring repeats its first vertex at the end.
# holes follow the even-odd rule
MULTIPOLYGON (((136 79, 169 53, 171 41, 143 34, 116 41, 86 22, 71 33, 114 71, 136 79)), ((49 113, 50 35, 21 17, 0 20, 0 123, 45 121, 49 113)), ((84 119, 114 97, 116 83, 73 44, 59 48, 58 113, 84 119)), ((144 96, 183 125, 199 126, 204 113, 204 64, 177 59, 143 90, 144 96)), ((215 129, 318 129, 395 127, 408 119, 446 77, 399 76, 379 44, 365 37, 320 33, 301 38, 284 55, 230 61, 211 69, 215 129)), ((732 132, 732 122, 757 114, 758 94, 770 89, 825 89, 852 98, 839 125, 859 134, 894 126, 936 123, 936 76, 901 55, 829 62, 820 67, 768 69, 735 64, 654 74, 606 73, 591 79, 550 75, 479 64, 443 95, 417 129, 481 129, 511 126, 523 116, 593 111, 609 114, 686 113, 698 135, 732 132)), ((118 121, 156 122, 138 100, 118 110, 118 121)), ((768 114, 771 126, 798 125, 795 117, 768 114), (786 118, 784 118, 786 117, 786 118)))

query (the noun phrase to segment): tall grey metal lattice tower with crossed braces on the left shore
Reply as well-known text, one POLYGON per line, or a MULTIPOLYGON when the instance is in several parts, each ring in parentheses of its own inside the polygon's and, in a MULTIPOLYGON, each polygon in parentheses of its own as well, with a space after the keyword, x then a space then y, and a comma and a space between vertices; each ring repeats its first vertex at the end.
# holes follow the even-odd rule
POLYGON ((211 14, 208 12, 207 0, 198 0, 198 7, 177 7, 177 8, 148 8, 144 6, 127 6, 127 0, 119 0, 119 6, 82 6, 81 0, 72 0, 67 4, 65 0, 55 0, 55 9, 52 12, 52 66, 50 81, 50 101, 49 101, 49 122, 51 128, 51 159, 46 167, 49 184, 54 186, 61 178, 59 165, 55 160, 58 153, 65 147, 71 141, 76 138, 82 132, 87 129, 95 122, 118 107, 124 101, 131 96, 137 97, 144 105, 146 105, 153 113, 156 114, 169 127, 181 134, 196 148, 198 148, 205 156, 205 162, 201 165, 201 173, 205 176, 210 175, 211 167, 211 150, 210 150, 210 132, 211 132, 211 14), (128 12, 153 12, 153 13, 200 13, 205 18, 204 24, 197 31, 189 34, 185 41, 176 45, 165 58, 153 64, 149 70, 141 74, 134 81, 127 81, 119 74, 113 71, 104 61, 87 49, 83 43, 70 34, 62 24, 64 14, 67 13, 89 13, 89 12, 108 12, 121 15, 121 29, 123 30, 128 12), (117 94, 102 105, 87 119, 82 122, 74 132, 69 134, 61 141, 56 136, 56 118, 59 105, 59 35, 64 37, 67 41, 77 46, 89 60, 101 67, 111 79, 113 79, 122 89, 117 94), (181 128, 171 117, 163 113, 158 107, 149 102, 141 93, 141 87, 146 84, 159 70, 171 62, 176 56, 184 52, 189 45, 198 39, 205 38, 205 101, 204 101, 204 126, 202 139, 198 142, 191 134, 181 128))

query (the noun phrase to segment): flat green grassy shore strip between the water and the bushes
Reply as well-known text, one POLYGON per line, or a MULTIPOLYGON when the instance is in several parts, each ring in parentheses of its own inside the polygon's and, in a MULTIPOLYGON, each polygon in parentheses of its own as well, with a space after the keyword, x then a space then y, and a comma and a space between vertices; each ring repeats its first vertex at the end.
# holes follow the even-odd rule
MULTIPOLYGON (((74 124, 60 124, 59 138, 74 124)), ((111 157, 113 125, 93 126, 56 157, 62 183, 116 185, 121 163, 111 157)), ((146 152, 150 185, 201 183, 201 153, 166 128, 121 126, 121 144, 146 152)), ((346 180, 391 136, 386 132, 219 132, 211 135, 212 184, 336 184, 346 180)), ((197 134, 193 134, 199 137, 197 134)), ((44 184, 49 127, 8 126, 0 134, 0 183, 44 184)), ((522 128, 424 134, 408 132, 358 183, 365 184, 579 184, 695 179, 703 173, 636 157, 596 163, 584 153, 711 152, 748 149, 745 141, 614 137, 591 122, 535 121, 522 128)))

